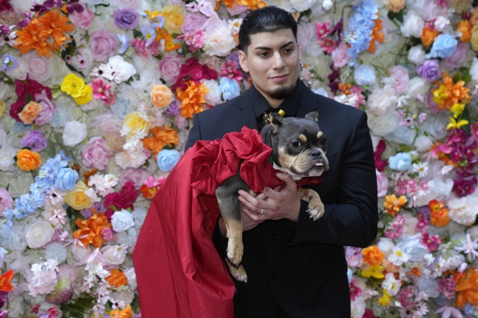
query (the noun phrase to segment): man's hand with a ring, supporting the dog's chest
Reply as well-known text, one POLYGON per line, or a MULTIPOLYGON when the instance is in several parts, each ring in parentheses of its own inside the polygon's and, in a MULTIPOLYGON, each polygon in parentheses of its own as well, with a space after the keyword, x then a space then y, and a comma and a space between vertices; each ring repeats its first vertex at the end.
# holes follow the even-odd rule
MULTIPOLYGON (((253 197, 249 193, 239 190, 239 201, 242 203, 242 212, 257 226, 265 220, 289 219, 297 222, 300 211, 300 198, 297 185, 287 173, 277 173, 277 177, 285 182, 285 187, 265 187, 263 193, 253 197)), ((245 220, 242 221, 244 225, 245 220)), ((249 230, 249 229, 248 229, 249 230)), ((245 231, 245 226, 244 226, 245 231)))

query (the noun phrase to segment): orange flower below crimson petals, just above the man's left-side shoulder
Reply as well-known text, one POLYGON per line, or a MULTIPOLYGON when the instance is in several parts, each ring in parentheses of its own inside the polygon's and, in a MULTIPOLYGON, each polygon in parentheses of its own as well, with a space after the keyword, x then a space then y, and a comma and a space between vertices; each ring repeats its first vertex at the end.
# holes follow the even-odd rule
POLYGON ((202 82, 196 85, 192 80, 187 82, 186 90, 176 89, 176 97, 181 101, 181 116, 184 118, 193 118, 194 114, 204 110, 203 104, 206 103, 204 95, 209 92, 209 88, 202 82))

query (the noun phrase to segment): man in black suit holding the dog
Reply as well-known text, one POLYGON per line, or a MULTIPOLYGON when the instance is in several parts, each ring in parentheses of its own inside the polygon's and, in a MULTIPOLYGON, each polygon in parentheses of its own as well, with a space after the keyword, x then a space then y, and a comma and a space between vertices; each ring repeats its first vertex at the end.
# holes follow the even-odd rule
MULTIPOLYGON (((235 281, 237 318, 350 317, 344 246, 366 247, 377 233, 377 186, 366 114, 314 94, 298 80, 301 54, 297 23, 290 13, 268 6, 249 13, 239 31, 239 63, 252 79, 240 96, 196 114, 186 148, 197 140, 222 138, 242 126, 263 127, 263 113, 282 110, 304 117, 319 111, 328 138, 330 169, 312 188, 325 204, 312 221, 307 203, 287 174, 282 190, 265 188, 253 197, 239 191, 243 205, 247 283, 235 281)), ((214 239, 224 255, 220 219, 214 239)))

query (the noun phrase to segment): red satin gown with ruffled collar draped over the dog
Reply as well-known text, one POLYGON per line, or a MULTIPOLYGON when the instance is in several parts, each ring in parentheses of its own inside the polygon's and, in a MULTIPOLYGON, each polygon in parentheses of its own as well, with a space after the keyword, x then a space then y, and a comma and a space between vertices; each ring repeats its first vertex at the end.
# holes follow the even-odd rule
POLYGON ((253 191, 284 185, 267 162, 271 152, 256 130, 243 127, 197 142, 179 160, 153 198, 132 254, 143 318, 233 317, 234 283, 211 239, 215 190, 240 160, 240 176, 253 191))

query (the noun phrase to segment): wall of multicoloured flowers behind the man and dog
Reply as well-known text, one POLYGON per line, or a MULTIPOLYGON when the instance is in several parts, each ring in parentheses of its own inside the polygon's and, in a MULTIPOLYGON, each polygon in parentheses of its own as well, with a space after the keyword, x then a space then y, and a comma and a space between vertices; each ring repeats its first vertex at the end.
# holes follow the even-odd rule
POLYGON ((301 79, 368 114, 352 316, 478 316, 478 1, 0 0, 1 318, 140 317, 149 202, 193 114, 250 86, 239 26, 265 5, 299 22, 301 79))

